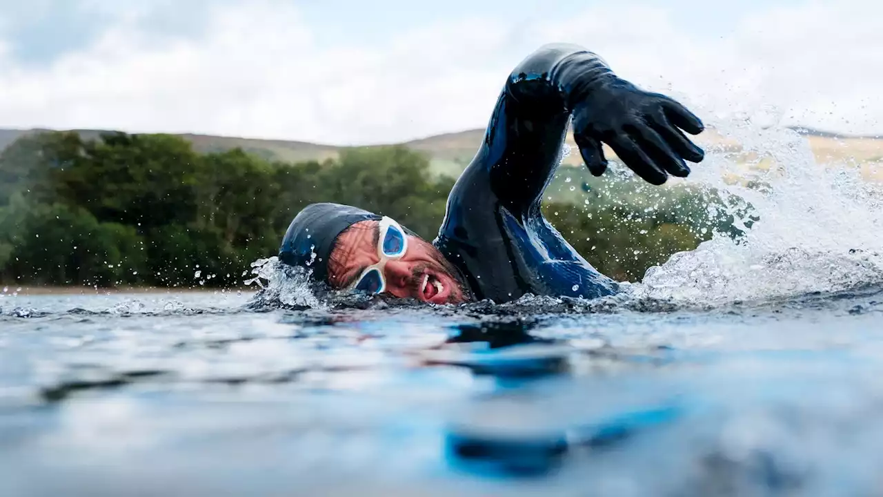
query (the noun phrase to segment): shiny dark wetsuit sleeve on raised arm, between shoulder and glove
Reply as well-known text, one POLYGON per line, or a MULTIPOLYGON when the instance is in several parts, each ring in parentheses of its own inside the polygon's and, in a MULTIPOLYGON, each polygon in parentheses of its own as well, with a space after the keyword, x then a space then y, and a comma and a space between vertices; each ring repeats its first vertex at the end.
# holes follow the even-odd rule
POLYGON ((538 210, 561 160, 574 106, 602 80, 614 78, 599 56, 576 45, 541 47, 509 74, 484 143, 467 168, 472 171, 461 180, 490 188, 517 217, 538 210), (486 184, 480 175, 487 175, 486 184))

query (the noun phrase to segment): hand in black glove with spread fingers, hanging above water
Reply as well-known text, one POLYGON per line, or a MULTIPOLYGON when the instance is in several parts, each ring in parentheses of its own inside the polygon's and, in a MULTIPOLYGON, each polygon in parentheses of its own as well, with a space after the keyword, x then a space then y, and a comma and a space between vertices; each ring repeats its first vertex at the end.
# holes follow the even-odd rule
POLYGON ((687 176, 690 168, 684 159, 698 163, 705 157, 681 133, 681 129, 690 134, 705 129, 691 111, 668 96, 645 92, 613 75, 577 96, 572 109, 574 139, 594 176, 607 170, 602 141, 653 185, 665 183, 669 173, 687 176))

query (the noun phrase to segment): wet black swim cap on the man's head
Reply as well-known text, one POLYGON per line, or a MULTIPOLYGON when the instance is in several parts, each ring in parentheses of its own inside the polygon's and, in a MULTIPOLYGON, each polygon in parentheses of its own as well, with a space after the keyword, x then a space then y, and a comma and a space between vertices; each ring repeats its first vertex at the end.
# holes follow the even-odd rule
POLYGON ((328 256, 337 235, 359 221, 381 216, 358 207, 339 203, 312 203, 291 221, 279 248, 279 260, 285 264, 313 270, 313 278, 328 279, 328 256))

